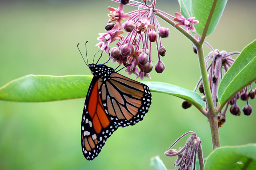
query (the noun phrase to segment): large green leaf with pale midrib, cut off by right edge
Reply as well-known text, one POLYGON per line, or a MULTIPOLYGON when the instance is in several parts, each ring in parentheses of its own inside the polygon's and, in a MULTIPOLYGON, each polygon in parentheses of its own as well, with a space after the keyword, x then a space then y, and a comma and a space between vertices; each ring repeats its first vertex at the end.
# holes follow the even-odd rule
POLYGON ((256 80, 256 40, 247 45, 224 75, 218 88, 220 105, 256 80))

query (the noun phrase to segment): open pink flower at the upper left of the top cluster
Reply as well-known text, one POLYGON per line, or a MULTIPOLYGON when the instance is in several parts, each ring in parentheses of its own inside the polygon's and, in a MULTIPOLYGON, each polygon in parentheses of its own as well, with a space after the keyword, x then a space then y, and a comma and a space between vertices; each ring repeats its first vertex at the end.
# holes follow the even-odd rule
POLYGON ((118 28, 120 29, 122 27, 122 21, 130 19, 130 15, 124 14, 124 5, 120 3, 118 9, 113 8, 111 6, 108 7, 110 10, 110 14, 108 14, 109 17, 112 17, 108 20, 108 22, 117 22, 118 28))

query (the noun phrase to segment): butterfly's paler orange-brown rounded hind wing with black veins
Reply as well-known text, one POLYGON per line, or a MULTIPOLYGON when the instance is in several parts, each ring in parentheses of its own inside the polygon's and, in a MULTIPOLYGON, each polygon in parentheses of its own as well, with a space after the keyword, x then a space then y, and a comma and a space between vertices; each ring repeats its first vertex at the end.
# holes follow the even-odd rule
POLYGON ((106 81, 99 80, 100 97, 110 120, 120 127, 142 121, 151 105, 147 85, 112 73, 106 81))

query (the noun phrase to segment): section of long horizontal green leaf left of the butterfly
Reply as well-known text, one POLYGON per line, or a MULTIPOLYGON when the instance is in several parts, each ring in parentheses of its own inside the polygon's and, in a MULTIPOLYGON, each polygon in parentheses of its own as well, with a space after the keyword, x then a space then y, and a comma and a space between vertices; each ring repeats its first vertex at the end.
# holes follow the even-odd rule
POLYGON ((92 76, 26 75, 0 88, 0 100, 41 102, 85 97, 92 76))

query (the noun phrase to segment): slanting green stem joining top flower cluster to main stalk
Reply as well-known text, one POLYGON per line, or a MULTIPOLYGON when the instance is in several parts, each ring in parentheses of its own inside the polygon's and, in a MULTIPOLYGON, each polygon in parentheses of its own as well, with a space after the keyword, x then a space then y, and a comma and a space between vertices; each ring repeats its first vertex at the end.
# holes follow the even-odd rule
MULTIPOLYGON (((168 24, 170 24, 171 26, 173 26, 175 28, 175 22, 172 21, 170 18, 166 17, 165 15, 161 14, 160 12, 155 12, 155 14, 157 16, 159 16, 160 18, 162 18, 164 21, 166 21, 168 24)), ((186 36, 186 38, 188 38, 188 40, 190 40, 192 43, 194 43, 194 45, 198 45, 198 41, 191 35, 189 34, 186 30, 184 30, 183 28, 181 28, 180 26, 176 27, 176 29, 181 32, 181 34, 183 34, 184 36, 186 36)))

